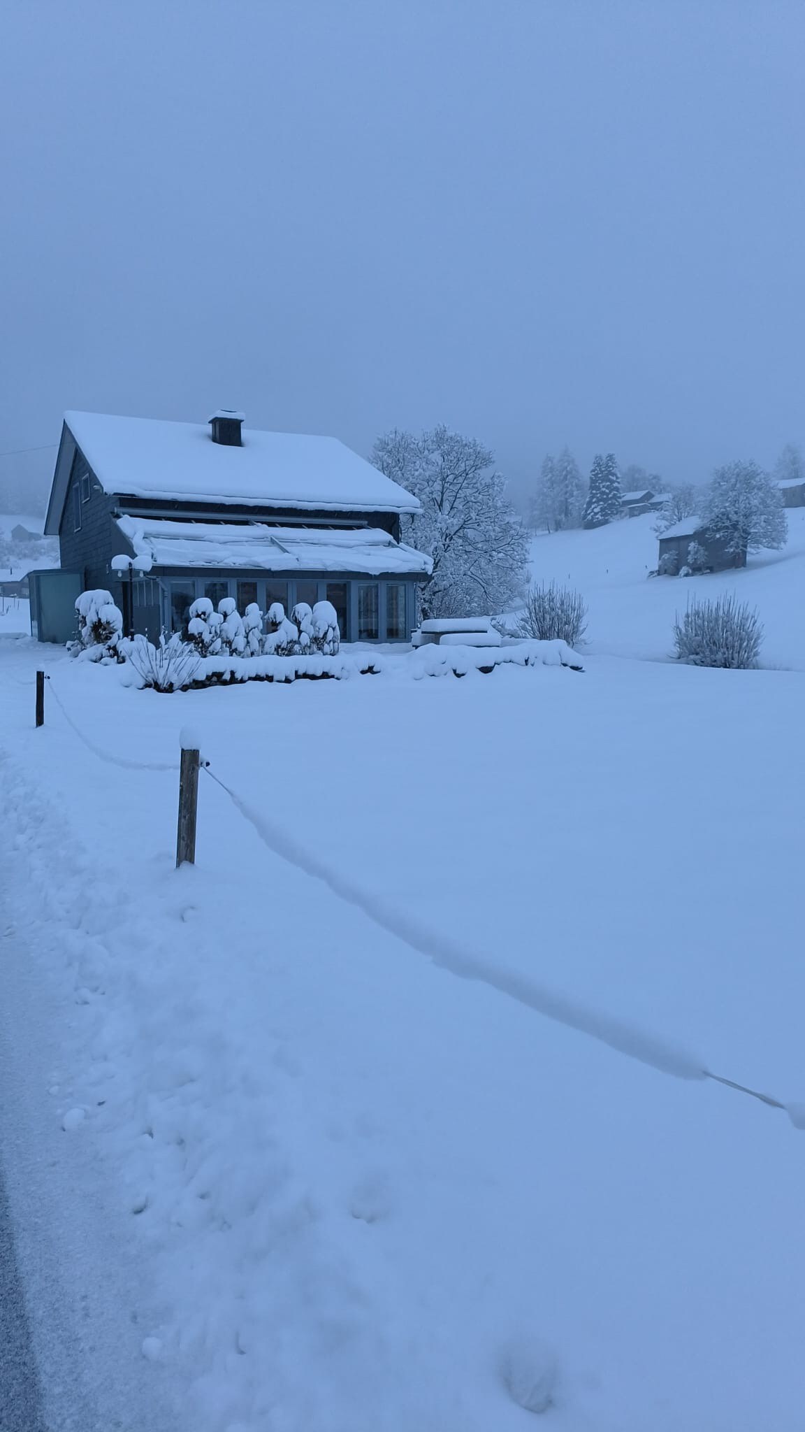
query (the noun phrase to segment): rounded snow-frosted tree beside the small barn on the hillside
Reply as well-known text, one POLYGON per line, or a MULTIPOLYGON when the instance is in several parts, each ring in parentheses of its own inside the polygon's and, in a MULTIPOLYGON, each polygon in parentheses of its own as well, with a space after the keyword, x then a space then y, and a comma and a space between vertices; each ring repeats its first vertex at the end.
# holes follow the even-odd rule
POLYGON ((726 463, 708 488, 703 526, 726 550, 739 556, 761 547, 784 547, 788 523, 779 488, 758 463, 726 463))

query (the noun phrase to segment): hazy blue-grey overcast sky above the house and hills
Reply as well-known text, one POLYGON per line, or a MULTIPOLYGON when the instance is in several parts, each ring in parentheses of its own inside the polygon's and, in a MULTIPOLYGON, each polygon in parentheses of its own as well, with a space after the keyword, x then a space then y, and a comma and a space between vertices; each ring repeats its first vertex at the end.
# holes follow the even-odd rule
POLYGON ((444 421, 517 491, 564 442, 768 464, 804 56, 802 0, 6 0, 0 450, 226 405, 444 421))

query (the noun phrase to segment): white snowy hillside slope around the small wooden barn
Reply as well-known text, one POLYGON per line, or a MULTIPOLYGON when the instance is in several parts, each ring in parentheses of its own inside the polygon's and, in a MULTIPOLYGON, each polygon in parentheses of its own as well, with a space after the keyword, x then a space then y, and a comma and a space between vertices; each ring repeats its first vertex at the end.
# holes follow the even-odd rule
POLYGON ((689 596, 735 591, 765 624, 763 666, 805 670, 805 508, 788 513, 788 544, 749 558, 742 571, 647 579, 657 564, 656 517, 632 517, 594 531, 543 533, 531 544, 536 581, 569 583, 589 607, 586 650, 662 660, 672 650, 676 611, 689 596))

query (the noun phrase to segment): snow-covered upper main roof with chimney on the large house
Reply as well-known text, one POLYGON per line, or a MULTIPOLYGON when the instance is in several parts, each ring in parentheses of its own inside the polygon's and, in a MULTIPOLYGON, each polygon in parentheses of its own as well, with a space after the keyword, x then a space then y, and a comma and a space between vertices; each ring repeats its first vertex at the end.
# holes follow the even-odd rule
POLYGON ((308 511, 420 508, 418 498, 338 438, 244 428, 244 445, 228 447, 201 422, 103 412, 66 412, 64 422, 106 493, 308 511))

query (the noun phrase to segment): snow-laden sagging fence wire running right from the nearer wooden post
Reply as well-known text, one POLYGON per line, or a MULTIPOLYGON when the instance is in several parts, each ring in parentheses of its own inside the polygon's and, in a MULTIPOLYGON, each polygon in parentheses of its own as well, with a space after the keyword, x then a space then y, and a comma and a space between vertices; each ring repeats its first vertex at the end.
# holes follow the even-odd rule
POLYGON ((799 1106, 784 1104, 772 1098, 771 1094, 761 1094, 745 1084, 736 1084, 720 1074, 712 1074, 702 1058, 680 1045, 672 1044, 660 1035, 639 1030, 625 1020, 600 1014, 583 1004, 567 1000, 566 995, 537 984, 519 971, 487 964, 481 955, 467 952, 448 935, 431 931, 413 919, 405 911, 387 905, 377 895, 361 889, 339 871, 335 871, 321 856, 312 851, 307 851, 275 825, 275 822, 268 821, 262 812, 249 806, 242 796, 209 769, 209 765, 202 765, 201 769, 206 770, 208 776, 226 792, 235 809, 249 822, 264 845, 274 855, 297 866, 297 869, 312 879, 322 881, 339 899, 347 901, 350 905, 357 905, 375 925, 401 939, 411 949, 417 951, 417 954, 427 955, 441 969, 448 969, 450 974, 461 979, 477 979, 481 984, 487 984, 511 1000, 517 1000, 520 1004, 536 1010, 547 1020, 554 1020, 576 1030, 579 1034, 586 1034, 592 1040, 607 1044, 619 1054, 639 1060, 642 1064, 649 1064, 652 1068, 659 1070, 660 1074, 672 1074, 675 1078, 685 1080, 715 1080, 718 1084, 726 1084, 742 1094, 749 1094, 752 1098, 758 1098, 772 1108, 785 1110, 796 1128, 805 1127, 805 1110, 799 1106))

